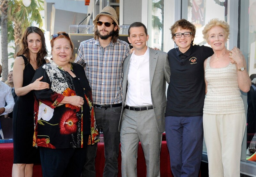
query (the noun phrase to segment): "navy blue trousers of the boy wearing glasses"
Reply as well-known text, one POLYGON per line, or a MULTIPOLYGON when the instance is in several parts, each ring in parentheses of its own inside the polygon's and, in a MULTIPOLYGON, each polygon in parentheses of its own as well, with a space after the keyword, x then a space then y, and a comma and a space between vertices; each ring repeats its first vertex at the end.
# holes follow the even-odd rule
POLYGON ((174 177, 198 177, 203 151, 203 116, 165 117, 165 133, 174 177))

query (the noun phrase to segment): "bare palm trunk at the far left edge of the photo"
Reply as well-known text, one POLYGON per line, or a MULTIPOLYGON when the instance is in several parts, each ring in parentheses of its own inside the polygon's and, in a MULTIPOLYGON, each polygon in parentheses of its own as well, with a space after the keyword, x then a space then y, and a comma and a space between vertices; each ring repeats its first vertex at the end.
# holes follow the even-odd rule
POLYGON ((7 80, 8 75, 8 43, 7 43, 7 0, 0 0, 0 13, 1 13, 1 47, 2 47, 2 67, 3 78, 2 81, 7 80))

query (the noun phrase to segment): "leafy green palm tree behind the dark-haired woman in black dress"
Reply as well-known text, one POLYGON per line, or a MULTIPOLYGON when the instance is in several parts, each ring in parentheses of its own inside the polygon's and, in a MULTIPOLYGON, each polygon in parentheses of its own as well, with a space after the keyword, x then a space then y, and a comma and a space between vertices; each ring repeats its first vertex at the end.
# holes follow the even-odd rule
POLYGON ((43 0, 31 0, 31 4, 25 7, 22 0, 11 0, 8 2, 8 41, 15 44, 15 53, 19 49, 20 38, 28 26, 37 24, 43 26, 40 11, 44 10, 43 0))

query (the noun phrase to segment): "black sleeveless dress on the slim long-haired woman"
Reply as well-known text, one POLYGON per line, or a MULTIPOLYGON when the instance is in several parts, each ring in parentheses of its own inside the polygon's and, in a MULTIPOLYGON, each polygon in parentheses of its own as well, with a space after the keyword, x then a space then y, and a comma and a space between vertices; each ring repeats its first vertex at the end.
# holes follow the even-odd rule
MULTIPOLYGON (((20 56, 25 62, 22 84, 22 87, 25 87, 31 83, 36 71, 24 55, 20 56)), ((24 96, 19 96, 13 107, 13 163, 15 164, 34 164, 40 161, 39 151, 33 147, 34 102, 33 91, 30 91, 24 96)))

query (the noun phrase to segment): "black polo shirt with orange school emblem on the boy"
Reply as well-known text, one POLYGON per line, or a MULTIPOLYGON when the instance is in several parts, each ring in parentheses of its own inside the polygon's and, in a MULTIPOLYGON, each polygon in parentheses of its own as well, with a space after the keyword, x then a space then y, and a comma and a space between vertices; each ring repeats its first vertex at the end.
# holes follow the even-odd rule
POLYGON ((171 76, 165 117, 203 115, 204 60, 212 54, 211 47, 198 45, 191 45, 185 53, 181 53, 178 47, 168 52, 171 76))

